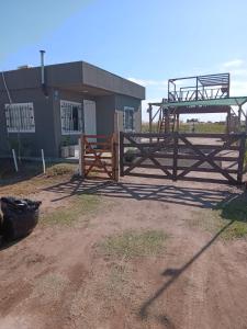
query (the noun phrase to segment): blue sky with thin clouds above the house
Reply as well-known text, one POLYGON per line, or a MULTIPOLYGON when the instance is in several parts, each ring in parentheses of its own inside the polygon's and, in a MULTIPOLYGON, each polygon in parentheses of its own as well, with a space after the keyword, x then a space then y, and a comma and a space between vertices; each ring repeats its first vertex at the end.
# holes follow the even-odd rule
POLYGON ((167 95, 169 78, 225 71, 232 95, 247 94, 246 0, 0 3, 0 70, 38 65, 43 48, 46 64, 82 59, 144 84, 146 102, 167 95))

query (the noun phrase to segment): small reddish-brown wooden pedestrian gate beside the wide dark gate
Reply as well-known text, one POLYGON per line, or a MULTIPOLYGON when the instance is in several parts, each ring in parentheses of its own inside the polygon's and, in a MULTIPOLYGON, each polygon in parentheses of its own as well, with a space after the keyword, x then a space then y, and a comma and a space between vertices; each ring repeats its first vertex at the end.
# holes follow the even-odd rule
POLYGON ((81 135, 80 137, 81 175, 119 180, 117 138, 113 134, 81 135))

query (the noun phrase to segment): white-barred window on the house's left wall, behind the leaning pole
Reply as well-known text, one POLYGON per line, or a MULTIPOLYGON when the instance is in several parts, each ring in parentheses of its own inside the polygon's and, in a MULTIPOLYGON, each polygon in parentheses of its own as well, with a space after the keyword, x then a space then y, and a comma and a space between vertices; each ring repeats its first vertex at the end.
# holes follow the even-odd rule
POLYGON ((35 133, 33 103, 5 104, 8 133, 35 133))

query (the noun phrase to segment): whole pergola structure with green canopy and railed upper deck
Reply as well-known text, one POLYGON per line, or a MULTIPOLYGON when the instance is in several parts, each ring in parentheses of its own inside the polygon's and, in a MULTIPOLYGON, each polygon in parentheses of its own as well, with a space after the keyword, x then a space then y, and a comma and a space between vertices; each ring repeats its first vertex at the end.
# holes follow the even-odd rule
POLYGON ((243 109, 246 103, 247 97, 229 97, 229 73, 170 79, 168 99, 149 103, 149 132, 154 131, 153 123, 157 118, 157 133, 170 133, 179 132, 181 114, 204 113, 225 113, 227 134, 232 132, 233 120, 237 123, 236 131, 240 131, 244 116, 247 132, 247 115, 243 109), (193 86, 184 86, 184 81, 192 81, 193 86))

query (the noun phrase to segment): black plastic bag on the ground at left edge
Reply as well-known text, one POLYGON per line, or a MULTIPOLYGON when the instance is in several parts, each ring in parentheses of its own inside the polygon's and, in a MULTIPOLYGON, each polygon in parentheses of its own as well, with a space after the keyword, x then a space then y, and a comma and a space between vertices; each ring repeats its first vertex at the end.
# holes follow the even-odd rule
POLYGON ((7 240, 15 240, 29 235, 38 222, 40 201, 2 197, 3 222, 1 234, 7 240))

